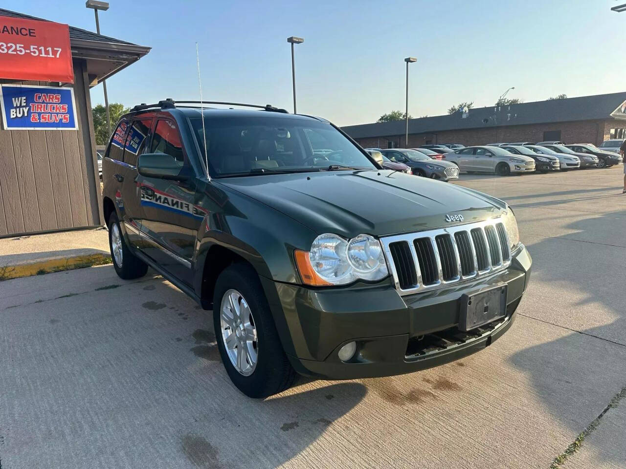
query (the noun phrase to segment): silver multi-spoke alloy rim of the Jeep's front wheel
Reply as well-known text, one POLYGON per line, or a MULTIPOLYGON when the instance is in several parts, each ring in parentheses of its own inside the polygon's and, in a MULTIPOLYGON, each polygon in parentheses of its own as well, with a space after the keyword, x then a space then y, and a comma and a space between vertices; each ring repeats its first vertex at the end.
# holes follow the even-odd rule
POLYGON ((222 296, 220 311, 222 339, 230 363, 241 375, 250 376, 257 367, 259 350, 250 306, 239 291, 231 289, 222 296))

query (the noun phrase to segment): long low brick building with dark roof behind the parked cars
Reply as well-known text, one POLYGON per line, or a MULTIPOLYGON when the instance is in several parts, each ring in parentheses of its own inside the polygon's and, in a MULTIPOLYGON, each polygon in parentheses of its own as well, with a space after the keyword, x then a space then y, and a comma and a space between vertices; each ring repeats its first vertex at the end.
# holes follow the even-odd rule
MULTIPOLYGON (((343 127, 364 148, 404 148, 405 121, 343 127)), ((600 144, 626 138, 626 92, 464 109, 409 119, 408 148, 423 144, 561 140, 600 144)))

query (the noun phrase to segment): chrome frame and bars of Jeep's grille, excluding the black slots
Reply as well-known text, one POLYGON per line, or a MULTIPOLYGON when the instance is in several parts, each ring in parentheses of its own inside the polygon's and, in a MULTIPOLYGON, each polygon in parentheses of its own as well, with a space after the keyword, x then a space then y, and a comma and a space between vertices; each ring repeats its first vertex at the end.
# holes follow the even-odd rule
POLYGON ((501 216, 498 216, 496 218, 490 218, 485 221, 478 221, 474 223, 464 223, 464 224, 458 224, 454 226, 446 226, 444 228, 432 229, 428 231, 417 231, 414 233, 406 233, 404 235, 382 236, 380 238, 380 241, 382 244, 382 251, 384 253, 385 260, 387 261, 387 266, 389 267, 389 271, 391 272, 391 276, 393 278, 394 285, 396 286, 396 290, 398 290, 398 293, 400 295, 411 295, 413 293, 420 293, 422 291, 437 290, 438 288, 443 288, 444 286, 447 286, 447 285, 459 283, 461 281, 466 281, 466 280, 470 280, 474 278, 481 278, 484 276, 491 275, 492 273, 495 273, 497 271, 504 270, 505 268, 508 268, 508 266, 511 265, 511 260, 513 258, 513 252, 512 252, 513 250, 511 249, 511 241, 508 238, 508 233, 506 231, 506 226, 505 226, 504 235, 506 238, 506 245, 509 246, 508 260, 505 261, 505 253, 502 252, 502 248, 500 245, 500 235, 498 234, 498 228, 496 227, 496 224, 498 223, 504 224, 504 219, 501 216), (497 243, 498 251, 500 251, 500 263, 498 263, 498 265, 492 265, 491 263, 491 251, 490 251, 489 241, 487 239, 486 232, 485 232, 485 226, 493 226, 493 229, 495 230, 496 238, 498 240, 498 243, 497 243), (489 267, 485 270, 480 270, 480 271, 478 270, 478 258, 476 256, 476 248, 474 246, 474 241, 472 240, 472 237, 471 237, 471 230, 474 228, 478 228, 480 230, 479 232, 483 238, 483 241, 485 242, 486 256, 487 256, 488 264, 489 264, 489 267), (474 272, 471 273, 471 275, 463 275, 463 271, 461 269, 461 256, 459 255, 458 245, 456 242, 456 238, 454 236, 459 231, 466 231, 466 233, 468 233, 468 236, 469 236, 469 246, 471 248, 472 257, 474 260, 474 272), (443 271, 441 268, 441 258, 439 257, 439 250, 438 250, 437 243, 435 240, 435 238, 439 235, 449 235, 451 237, 451 240, 454 246, 454 255, 456 256, 458 275, 456 276, 456 278, 453 278, 448 281, 441 280, 443 278, 443 271), (418 262, 418 258, 417 258, 417 254, 415 250, 415 245, 414 245, 415 240, 419 240, 422 238, 428 238, 430 240, 431 245, 433 246, 433 250, 435 253, 435 260, 437 263, 437 271, 438 271, 439 277, 435 283, 431 283, 430 285, 423 285, 422 283, 421 270, 419 268, 419 262, 418 262), (414 263, 417 278, 418 278, 418 285, 412 288, 408 288, 406 290, 403 290, 402 288, 400 288, 398 271, 396 270, 396 265, 394 264, 393 256, 391 256, 391 249, 389 248, 389 245, 391 245, 391 243, 397 243, 399 241, 404 241, 408 243, 409 250, 411 251, 411 256, 413 257, 413 263, 414 263))

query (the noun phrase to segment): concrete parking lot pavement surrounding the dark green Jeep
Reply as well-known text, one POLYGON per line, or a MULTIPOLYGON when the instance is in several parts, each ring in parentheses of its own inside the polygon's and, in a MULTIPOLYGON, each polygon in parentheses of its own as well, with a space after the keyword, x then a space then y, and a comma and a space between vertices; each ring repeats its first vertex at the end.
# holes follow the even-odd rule
POLYGON ((622 166, 461 178, 513 206, 534 260, 493 345, 393 378, 301 378, 257 401, 230 383, 211 313, 158 276, 8 280, 0 468, 548 468, 585 428, 562 467, 623 468, 622 166))

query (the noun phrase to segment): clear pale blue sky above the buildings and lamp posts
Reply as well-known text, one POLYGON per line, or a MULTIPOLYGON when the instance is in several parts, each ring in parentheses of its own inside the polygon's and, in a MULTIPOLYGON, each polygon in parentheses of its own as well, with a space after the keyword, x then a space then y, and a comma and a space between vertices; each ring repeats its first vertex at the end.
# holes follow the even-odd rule
MULTIPOLYGON (((617 2, 620 3, 620 2, 617 2)), ((150 46, 108 82, 110 102, 164 98, 274 104, 292 111, 288 36, 296 46, 298 110, 341 126, 404 109, 445 114, 459 101, 539 101, 626 91, 626 12, 613 0, 110 0, 103 34, 150 46)), ((95 30, 82 0, 3 0, 3 8, 95 30)), ((103 103, 102 86, 91 90, 103 103)))

